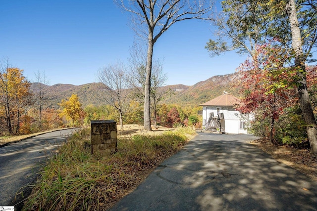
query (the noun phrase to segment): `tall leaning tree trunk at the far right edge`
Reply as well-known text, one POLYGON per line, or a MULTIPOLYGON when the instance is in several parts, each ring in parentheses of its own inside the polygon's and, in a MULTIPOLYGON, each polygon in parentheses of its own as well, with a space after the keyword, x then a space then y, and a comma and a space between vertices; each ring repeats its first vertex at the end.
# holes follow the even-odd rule
POLYGON ((317 154, 317 124, 313 113, 312 104, 307 90, 305 59, 302 49, 301 31, 299 28, 295 0, 289 0, 286 5, 286 13, 291 25, 292 48, 295 51, 295 66, 301 72, 297 72, 299 77, 298 94, 301 110, 307 125, 307 135, 311 145, 311 152, 317 154))

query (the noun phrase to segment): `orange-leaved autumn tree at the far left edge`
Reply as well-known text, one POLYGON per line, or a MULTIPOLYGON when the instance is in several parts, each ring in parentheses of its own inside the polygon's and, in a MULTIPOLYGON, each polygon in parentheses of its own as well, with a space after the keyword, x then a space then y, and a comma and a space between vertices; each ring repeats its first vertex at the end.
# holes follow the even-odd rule
MULTIPOLYGON (((0 67, 0 118, 9 134, 18 134, 21 116, 30 104, 30 83, 23 70, 13 68, 7 62, 0 67)), ((4 131, 3 131, 4 132, 4 131)))

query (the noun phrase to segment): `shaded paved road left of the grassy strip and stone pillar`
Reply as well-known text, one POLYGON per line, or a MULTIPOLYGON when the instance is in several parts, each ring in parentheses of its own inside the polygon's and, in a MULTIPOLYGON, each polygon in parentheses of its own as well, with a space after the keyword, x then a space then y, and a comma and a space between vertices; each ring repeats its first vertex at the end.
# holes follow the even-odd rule
MULTIPOLYGON (((21 195, 14 200, 17 191, 36 181, 52 150, 74 130, 50 132, 0 148, 0 206, 13 206, 22 200, 21 195)), ((21 209, 21 205, 16 205, 16 209, 21 209)))

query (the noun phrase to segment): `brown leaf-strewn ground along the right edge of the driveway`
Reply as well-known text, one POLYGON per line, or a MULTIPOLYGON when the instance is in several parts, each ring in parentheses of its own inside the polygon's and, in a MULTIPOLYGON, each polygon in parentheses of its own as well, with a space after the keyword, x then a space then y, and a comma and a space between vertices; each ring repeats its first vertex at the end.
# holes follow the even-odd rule
POLYGON ((278 162, 301 171, 317 182, 317 155, 311 154, 308 149, 279 146, 263 140, 250 143, 271 155, 278 162))

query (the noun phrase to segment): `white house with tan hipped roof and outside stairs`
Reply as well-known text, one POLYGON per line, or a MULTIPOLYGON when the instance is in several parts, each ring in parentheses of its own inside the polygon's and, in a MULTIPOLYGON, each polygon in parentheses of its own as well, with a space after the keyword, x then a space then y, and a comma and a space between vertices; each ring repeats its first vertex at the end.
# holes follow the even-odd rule
POLYGON ((248 133, 247 126, 254 120, 254 115, 236 111, 235 108, 239 104, 238 98, 226 92, 201 104, 204 129, 236 134, 248 133))

